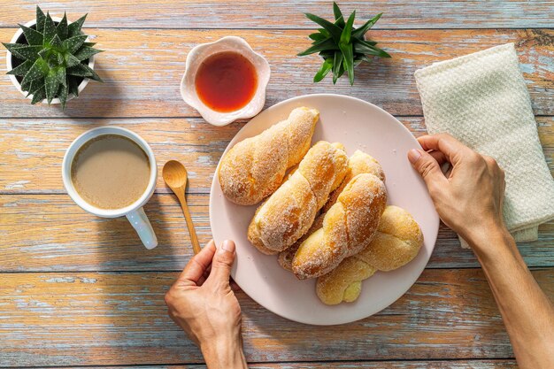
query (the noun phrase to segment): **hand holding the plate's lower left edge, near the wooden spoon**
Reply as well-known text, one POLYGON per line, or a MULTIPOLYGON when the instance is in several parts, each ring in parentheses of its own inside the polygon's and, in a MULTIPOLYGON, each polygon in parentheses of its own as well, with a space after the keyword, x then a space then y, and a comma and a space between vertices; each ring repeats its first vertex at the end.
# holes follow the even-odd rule
POLYGON ((234 261, 235 242, 216 249, 212 240, 165 294, 169 316, 200 347, 210 369, 246 367, 241 307, 229 285, 234 261))

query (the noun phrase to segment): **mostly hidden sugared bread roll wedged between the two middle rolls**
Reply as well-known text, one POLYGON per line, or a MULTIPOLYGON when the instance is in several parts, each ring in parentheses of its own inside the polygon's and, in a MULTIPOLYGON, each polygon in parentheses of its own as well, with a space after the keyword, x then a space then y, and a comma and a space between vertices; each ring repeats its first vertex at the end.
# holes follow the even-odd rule
POLYGON ((329 196, 327 204, 321 209, 321 214, 315 219, 312 224, 312 227, 304 234, 298 241, 296 241, 289 249, 281 251, 279 253, 279 264, 289 271, 292 271, 292 259, 295 257, 296 250, 300 247, 300 244, 304 242, 312 233, 317 231, 320 227, 323 226, 323 218, 327 210, 331 208, 336 203, 336 199, 341 195, 342 190, 346 187, 348 182, 358 174, 361 173, 370 173, 379 177, 381 181, 385 181, 385 173, 383 168, 377 160, 375 160, 371 155, 366 154, 363 151, 356 150, 348 160, 348 172, 342 180, 341 185, 335 189, 329 196))

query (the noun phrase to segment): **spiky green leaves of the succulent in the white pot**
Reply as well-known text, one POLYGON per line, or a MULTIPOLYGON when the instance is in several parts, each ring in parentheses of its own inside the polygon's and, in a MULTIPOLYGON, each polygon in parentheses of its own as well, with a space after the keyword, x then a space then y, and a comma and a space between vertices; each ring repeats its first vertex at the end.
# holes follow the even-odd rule
POLYGON ((95 43, 85 42, 81 27, 87 15, 71 24, 67 17, 58 24, 52 20, 50 13, 44 15, 36 7, 36 26, 25 27, 25 39, 17 43, 4 43, 12 52, 13 69, 8 74, 18 77, 21 89, 32 95, 31 104, 47 99, 48 104, 55 97, 59 98, 62 108, 69 95, 79 96, 79 84, 84 78, 102 81, 96 72, 88 66, 88 58, 102 50, 92 46, 95 43))

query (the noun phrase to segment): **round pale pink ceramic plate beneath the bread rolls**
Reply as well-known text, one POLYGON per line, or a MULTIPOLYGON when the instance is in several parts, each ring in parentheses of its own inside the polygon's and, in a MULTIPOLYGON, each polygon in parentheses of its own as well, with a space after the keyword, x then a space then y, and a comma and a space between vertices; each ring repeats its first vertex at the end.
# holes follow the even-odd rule
MULTIPOLYGON (((237 284, 266 309, 281 317, 314 325, 348 323, 381 311, 404 293, 423 272, 435 246, 439 217, 427 188, 406 153, 420 148, 413 135, 387 111, 357 98, 340 95, 299 96, 261 112, 242 127, 227 150, 246 137, 286 119, 298 106, 316 108, 320 113, 312 142, 342 142, 349 156, 363 150, 379 160, 387 176, 389 204, 410 211, 421 227, 425 244, 408 265, 393 272, 378 272, 363 282, 355 303, 327 306, 315 293, 315 281, 298 281, 277 263, 276 256, 261 254, 246 238, 256 206, 235 205, 225 198, 214 175, 210 195, 210 224, 215 242, 236 242, 233 278, 237 284)), ((226 151, 227 151, 226 150, 226 151)))

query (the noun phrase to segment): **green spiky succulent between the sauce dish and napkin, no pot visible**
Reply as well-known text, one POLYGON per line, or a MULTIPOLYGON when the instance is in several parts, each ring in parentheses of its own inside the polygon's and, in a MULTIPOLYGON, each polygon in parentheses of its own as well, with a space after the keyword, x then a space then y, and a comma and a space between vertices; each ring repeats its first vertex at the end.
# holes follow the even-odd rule
POLYGON ((346 72, 350 85, 353 85, 354 68, 364 61, 371 63, 372 59, 368 56, 390 58, 389 53, 375 46, 377 42, 365 37, 365 33, 381 18, 382 13, 377 14, 358 28, 354 28, 356 11, 352 12, 348 20, 344 21, 341 9, 336 3, 333 3, 333 13, 335 22, 310 13, 305 14, 308 19, 322 28, 309 36, 313 40, 312 47, 299 53, 298 56, 304 57, 318 52, 319 56, 323 58, 321 68, 313 77, 314 82, 323 80, 329 72, 332 72, 335 84, 346 72))

